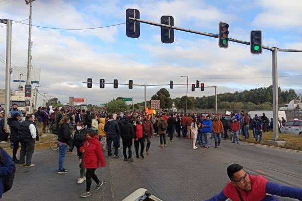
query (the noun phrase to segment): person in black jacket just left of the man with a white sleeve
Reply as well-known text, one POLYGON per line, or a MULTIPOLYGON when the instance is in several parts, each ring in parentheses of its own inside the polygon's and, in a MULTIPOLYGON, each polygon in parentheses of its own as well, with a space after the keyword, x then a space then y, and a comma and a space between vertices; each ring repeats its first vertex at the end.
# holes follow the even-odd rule
POLYGON ((17 159, 17 151, 19 149, 19 128, 20 128, 20 122, 22 120, 22 116, 18 113, 15 113, 13 115, 12 121, 10 122, 10 130, 11 130, 11 143, 13 143, 13 160, 15 163, 19 163, 19 160, 17 159))

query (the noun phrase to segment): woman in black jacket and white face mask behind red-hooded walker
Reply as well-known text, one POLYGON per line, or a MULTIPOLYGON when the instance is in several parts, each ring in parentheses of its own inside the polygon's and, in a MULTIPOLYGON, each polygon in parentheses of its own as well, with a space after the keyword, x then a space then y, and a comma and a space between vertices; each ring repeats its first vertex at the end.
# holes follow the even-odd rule
POLYGON ((78 178, 77 183, 81 184, 85 181, 85 168, 84 168, 84 161, 83 157, 84 154, 80 151, 80 148, 84 145, 86 141, 86 121, 81 121, 77 123, 77 130, 74 133, 73 139, 70 141, 70 146, 69 146, 69 154, 71 155, 71 152, 75 147, 77 147, 77 155, 79 157, 79 167, 80 167, 80 177, 78 178))

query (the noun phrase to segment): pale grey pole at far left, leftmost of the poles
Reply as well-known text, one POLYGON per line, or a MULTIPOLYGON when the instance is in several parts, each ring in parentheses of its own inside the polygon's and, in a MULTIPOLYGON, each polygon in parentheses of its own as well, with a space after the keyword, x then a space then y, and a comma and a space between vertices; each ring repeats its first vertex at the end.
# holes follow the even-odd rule
POLYGON ((8 114, 10 112, 10 91, 11 91, 11 54, 12 54, 12 21, 6 20, 7 24, 7 49, 6 49, 6 77, 5 77, 5 116, 4 128, 8 129, 8 114))

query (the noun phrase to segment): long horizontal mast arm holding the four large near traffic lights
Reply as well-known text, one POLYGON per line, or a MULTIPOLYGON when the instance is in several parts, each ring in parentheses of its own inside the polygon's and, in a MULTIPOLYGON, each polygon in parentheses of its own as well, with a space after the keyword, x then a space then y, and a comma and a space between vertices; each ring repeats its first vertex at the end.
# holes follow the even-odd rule
MULTIPOLYGON (((172 26, 172 25, 165 25, 165 24, 161 24, 161 23, 156 23, 156 22, 151 22, 151 21, 146 21, 146 20, 141 20, 141 19, 136 19, 136 18, 130 18, 130 17, 129 17, 129 20, 134 20, 134 21, 137 21, 137 22, 141 22, 141 23, 145 23, 145 24, 149 24, 149 25, 154 25, 154 26, 158 26, 158 27, 168 27, 168 28, 172 28, 172 29, 175 29, 175 30, 179 30, 179 31, 185 31, 185 32, 193 33, 193 34, 199 34, 199 35, 203 35, 203 36, 219 38, 217 34, 212 34, 212 33, 207 33, 207 32, 199 32, 199 31, 194 31, 194 30, 191 30, 191 29, 185 29, 185 28, 176 27, 176 26, 172 26)), ((232 41, 232 42, 235 42, 235 43, 241 43, 241 44, 245 44, 245 45, 250 45, 249 41, 243 41, 243 40, 238 40, 238 39, 234 39, 234 38, 229 38, 229 41, 232 41)), ((264 45, 262 46, 262 48, 267 49, 267 50, 272 50, 272 51, 275 50, 274 47, 264 46, 264 45)), ((297 50, 297 49, 281 49, 281 48, 278 48, 277 51, 279 51, 279 52, 302 52, 302 50, 297 50)))

